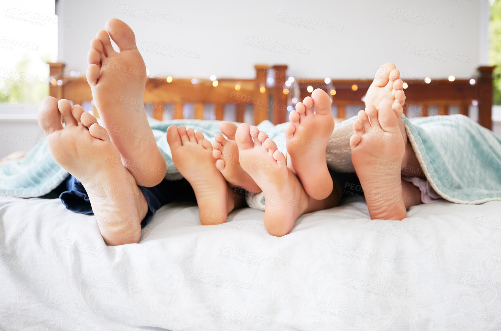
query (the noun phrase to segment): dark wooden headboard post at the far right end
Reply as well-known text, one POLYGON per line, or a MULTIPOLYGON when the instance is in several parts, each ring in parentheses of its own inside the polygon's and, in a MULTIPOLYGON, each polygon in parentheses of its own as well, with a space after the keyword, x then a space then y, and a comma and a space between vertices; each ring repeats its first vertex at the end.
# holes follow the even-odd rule
POLYGON ((495 66, 477 68, 478 124, 492 130, 492 71, 495 66))

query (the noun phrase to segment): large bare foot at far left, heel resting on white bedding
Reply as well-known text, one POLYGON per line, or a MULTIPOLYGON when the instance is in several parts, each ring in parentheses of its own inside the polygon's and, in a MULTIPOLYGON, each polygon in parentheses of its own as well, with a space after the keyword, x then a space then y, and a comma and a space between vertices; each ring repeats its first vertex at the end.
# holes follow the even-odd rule
POLYGON ((47 97, 38 110, 38 123, 54 160, 85 187, 104 241, 138 242, 148 205, 96 118, 79 105, 72 108, 68 100, 47 97))

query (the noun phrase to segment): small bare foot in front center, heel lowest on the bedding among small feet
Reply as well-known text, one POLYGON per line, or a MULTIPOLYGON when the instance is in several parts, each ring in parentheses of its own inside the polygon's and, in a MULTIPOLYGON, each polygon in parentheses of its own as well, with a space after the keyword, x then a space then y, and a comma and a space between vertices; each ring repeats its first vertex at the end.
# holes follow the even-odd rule
POLYGON ((242 123, 236 130, 239 162, 265 195, 265 227, 275 236, 289 233, 308 208, 309 197, 273 140, 242 123), (253 140, 253 136, 255 136, 253 140), (258 139, 256 139, 258 137, 258 139))

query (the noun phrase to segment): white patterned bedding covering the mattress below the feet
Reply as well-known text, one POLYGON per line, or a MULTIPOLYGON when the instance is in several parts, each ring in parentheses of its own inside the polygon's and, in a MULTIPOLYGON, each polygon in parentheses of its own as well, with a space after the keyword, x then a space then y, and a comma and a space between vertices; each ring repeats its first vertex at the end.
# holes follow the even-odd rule
POLYGON ((163 206, 107 246, 58 199, 0 200, 0 329, 499 330, 501 202, 370 220, 351 197, 266 232, 244 208, 202 226, 163 206))

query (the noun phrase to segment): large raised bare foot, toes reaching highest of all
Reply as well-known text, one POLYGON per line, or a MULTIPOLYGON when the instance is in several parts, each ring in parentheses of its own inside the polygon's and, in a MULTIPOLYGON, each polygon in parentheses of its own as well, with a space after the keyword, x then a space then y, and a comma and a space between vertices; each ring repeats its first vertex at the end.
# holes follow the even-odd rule
POLYGON ((124 166, 138 185, 151 187, 162 181, 167 168, 144 111, 146 66, 128 25, 111 19, 105 29, 91 41, 87 81, 124 166), (113 49, 108 34, 120 52, 113 49))

